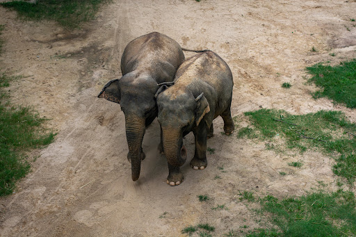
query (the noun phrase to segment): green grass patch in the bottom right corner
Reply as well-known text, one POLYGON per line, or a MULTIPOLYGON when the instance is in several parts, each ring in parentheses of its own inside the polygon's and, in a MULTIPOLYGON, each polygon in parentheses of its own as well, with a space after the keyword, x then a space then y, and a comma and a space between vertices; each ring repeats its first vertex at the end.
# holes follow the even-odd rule
POLYGON ((316 190, 301 197, 257 199, 262 213, 272 215, 275 229, 260 229, 248 236, 355 236, 356 199, 350 191, 316 190), (261 231, 266 233, 259 234, 261 231))

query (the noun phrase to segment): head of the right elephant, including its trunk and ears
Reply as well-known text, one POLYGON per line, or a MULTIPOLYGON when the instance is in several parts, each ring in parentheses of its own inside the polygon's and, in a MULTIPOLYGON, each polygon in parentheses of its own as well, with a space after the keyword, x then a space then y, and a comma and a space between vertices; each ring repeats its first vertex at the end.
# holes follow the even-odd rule
POLYGON ((164 86, 159 88, 156 94, 163 149, 168 163, 179 167, 186 161, 184 136, 203 122, 203 117, 209 113, 210 108, 203 93, 194 97, 191 91, 176 85, 165 89, 164 86))

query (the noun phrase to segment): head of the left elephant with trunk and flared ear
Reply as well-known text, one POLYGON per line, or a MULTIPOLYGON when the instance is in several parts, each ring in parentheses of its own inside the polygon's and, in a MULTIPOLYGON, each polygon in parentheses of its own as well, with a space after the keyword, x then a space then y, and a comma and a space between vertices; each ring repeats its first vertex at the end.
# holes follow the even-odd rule
POLYGON ((109 81, 98 95, 120 104, 125 116, 126 138, 129 146, 127 158, 131 162, 132 180, 140 177, 140 164, 145 158, 142 150, 145 126, 157 116, 156 98, 159 85, 149 76, 128 73, 121 79, 109 81))

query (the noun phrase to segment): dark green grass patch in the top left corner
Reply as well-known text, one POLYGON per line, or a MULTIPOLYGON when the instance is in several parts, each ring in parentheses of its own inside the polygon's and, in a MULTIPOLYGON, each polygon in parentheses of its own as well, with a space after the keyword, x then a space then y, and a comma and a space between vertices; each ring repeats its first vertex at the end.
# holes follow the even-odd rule
POLYGON ((21 19, 54 20, 68 28, 76 28, 82 22, 94 19, 101 3, 108 0, 38 0, 37 3, 10 1, 0 3, 4 8, 17 11, 21 19))

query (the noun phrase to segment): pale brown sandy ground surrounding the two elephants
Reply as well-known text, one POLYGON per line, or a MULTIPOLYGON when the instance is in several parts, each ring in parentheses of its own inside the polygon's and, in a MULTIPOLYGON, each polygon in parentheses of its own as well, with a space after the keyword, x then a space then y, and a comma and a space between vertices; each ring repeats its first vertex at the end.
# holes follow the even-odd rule
MULTIPOLYGON (((133 182, 124 115, 118 104, 96 96, 121 76, 126 44, 158 31, 182 47, 211 49, 226 60, 234 75, 232 115, 240 128, 248 124, 243 113, 259 108, 293 114, 338 110, 356 122, 355 110, 312 99, 316 88, 305 83, 305 67, 356 57, 350 21, 355 9, 354 0, 113 0, 95 21, 67 31, 53 22, 21 22, 0 7, 6 26, 0 70, 24 76, 9 88, 13 102, 34 106, 58 131, 54 143, 33 152, 39 158, 15 193, 0 198, 0 236, 184 236, 181 229, 198 223, 213 225, 213 236, 223 236, 243 225, 266 227, 238 199, 239 191, 302 195, 317 181, 332 189, 329 157, 276 154, 264 142, 223 136, 220 118, 208 140, 216 151, 208 155, 207 169, 195 171, 187 162, 184 183, 176 187, 165 183, 168 167, 156 149, 155 120, 145 134, 140 179, 133 182), (292 87, 281 88, 284 82, 292 87), (301 168, 287 165, 298 160, 301 168), (210 200, 199 202, 197 195, 210 200), (223 204, 227 209, 212 209, 223 204)), ((193 136, 184 142, 193 156, 193 136)))

